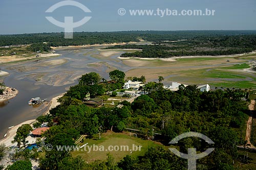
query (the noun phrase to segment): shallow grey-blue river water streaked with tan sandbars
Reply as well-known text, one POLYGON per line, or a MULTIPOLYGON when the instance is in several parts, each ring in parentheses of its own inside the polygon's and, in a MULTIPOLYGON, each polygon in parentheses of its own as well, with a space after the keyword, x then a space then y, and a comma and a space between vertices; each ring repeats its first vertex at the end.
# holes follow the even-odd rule
POLYGON ((0 103, 0 139, 4 138, 8 127, 36 118, 46 110, 44 105, 29 106, 28 101, 31 98, 40 96, 41 99, 50 100, 77 84, 77 78, 91 71, 98 72, 105 79, 109 78, 106 65, 95 67, 87 64, 104 62, 123 71, 131 69, 120 60, 116 60, 122 51, 113 54, 110 60, 91 57, 99 54, 97 48, 57 50, 56 53, 62 56, 1 66, 2 70, 10 73, 4 80, 5 84, 18 89, 19 93, 15 98, 0 103), (49 65, 49 61, 52 60, 65 63, 49 65))

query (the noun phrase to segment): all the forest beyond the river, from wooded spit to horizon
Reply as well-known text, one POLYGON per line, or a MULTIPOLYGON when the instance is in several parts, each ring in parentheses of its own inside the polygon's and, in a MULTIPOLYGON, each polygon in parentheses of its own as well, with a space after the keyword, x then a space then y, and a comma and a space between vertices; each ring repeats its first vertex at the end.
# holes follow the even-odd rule
POLYGON ((155 45, 116 45, 106 49, 135 48, 141 52, 124 53, 121 57, 167 58, 173 56, 232 55, 256 50, 256 31, 124 31, 81 32, 73 39, 63 38, 64 33, 36 33, 0 35, 0 52, 49 52, 50 46, 85 44, 111 44, 120 42, 150 41, 155 45), (10 46, 7 52, 5 46, 10 46), (27 48, 15 48, 27 45, 27 48), (1 47, 2 46, 2 47, 1 47))

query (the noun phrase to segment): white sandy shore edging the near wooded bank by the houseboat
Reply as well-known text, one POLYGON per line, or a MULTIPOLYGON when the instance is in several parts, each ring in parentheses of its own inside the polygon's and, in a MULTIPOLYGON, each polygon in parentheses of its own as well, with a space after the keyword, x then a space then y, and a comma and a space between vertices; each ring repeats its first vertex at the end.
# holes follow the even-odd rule
MULTIPOLYGON (((43 115, 48 114, 49 111, 50 111, 52 108, 58 106, 60 103, 57 102, 57 99, 59 99, 59 98, 60 98, 61 96, 63 96, 64 94, 65 94, 65 93, 60 94, 60 95, 56 96, 55 98, 53 98, 53 99, 51 100, 51 102, 50 102, 50 105, 49 105, 49 107, 48 107, 48 110, 47 110, 43 115)), ((20 126, 22 126, 22 125, 24 125, 24 124, 29 124, 29 125, 32 126, 32 124, 35 123, 35 121, 36 121, 36 119, 27 120, 27 121, 25 121, 25 122, 23 122, 23 123, 20 123, 20 124, 14 126, 13 128, 10 128, 10 129, 8 130, 8 132, 7 132, 7 136, 6 136, 4 139, 0 140, 0 144, 1 144, 1 143, 4 143, 4 144, 6 145, 6 147, 11 147, 11 146, 16 145, 16 143, 12 143, 11 141, 13 140, 13 137, 16 135, 16 132, 17 132, 18 127, 20 127, 20 126)))

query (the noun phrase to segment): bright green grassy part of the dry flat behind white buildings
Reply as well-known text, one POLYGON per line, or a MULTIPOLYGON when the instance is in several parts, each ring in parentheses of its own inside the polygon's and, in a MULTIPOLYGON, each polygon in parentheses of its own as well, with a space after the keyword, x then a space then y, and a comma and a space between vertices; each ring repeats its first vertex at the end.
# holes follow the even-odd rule
POLYGON ((186 84, 209 84, 211 87, 256 89, 256 76, 242 71, 248 64, 236 64, 228 67, 204 68, 197 70, 181 70, 166 80, 184 82, 186 84), (240 71, 241 70, 241 71, 240 71))

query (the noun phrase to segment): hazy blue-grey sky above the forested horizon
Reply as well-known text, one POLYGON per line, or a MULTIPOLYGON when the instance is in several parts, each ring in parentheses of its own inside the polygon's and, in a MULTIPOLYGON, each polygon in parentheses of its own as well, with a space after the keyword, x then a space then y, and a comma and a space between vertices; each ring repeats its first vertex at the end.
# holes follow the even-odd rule
POLYGON ((76 0, 91 12, 84 12, 75 6, 62 6, 52 13, 46 13, 47 9, 58 2, 61 1, 1 0, 0 34, 64 32, 64 28, 54 25, 46 19, 46 16, 52 16, 60 22, 64 22, 65 16, 72 16, 74 22, 85 16, 91 16, 84 25, 74 28, 74 32, 256 30, 255 0, 76 0), (124 15, 118 14, 120 8, 126 10, 124 15), (166 9, 172 11, 173 15, 167 14, 166 9), (202 10, 205 13, 205 9, 215 10, 215 15, 179 16, 174 13, 175 10, 178 13, 182 10, 202 10), (154 12, 149 16, 134 16, 131 15, 130 10, 154 10, 154 12))

